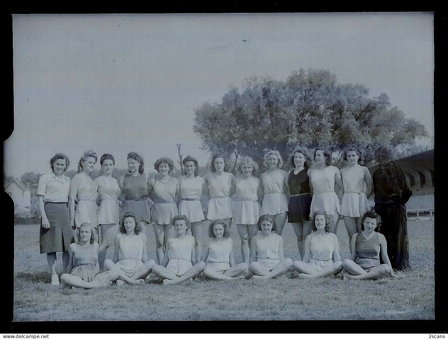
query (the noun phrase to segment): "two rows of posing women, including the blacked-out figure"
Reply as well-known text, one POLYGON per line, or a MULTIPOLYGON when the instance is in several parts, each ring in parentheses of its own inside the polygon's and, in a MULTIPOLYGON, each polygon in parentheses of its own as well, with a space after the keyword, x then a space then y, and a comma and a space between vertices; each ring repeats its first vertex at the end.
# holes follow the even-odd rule
MULTIPOLYGON (((250 157, 240 159, 235 167, 238 173, 235 177, 226 171, 225 158, 220 154, 212 157, 211 172, 203 178, 198 176, 198 162, 190 156, 182 161, 184 175, 178 179, 169 175, 174 163, 168 158, 155 162, 157 174, 150 177, 144 173, 142 157, 130 152, 129 172, 118 181, 112 177, 115 159, 111 154, 101 156, 103 175, 92 180, 90 173, 97 159, 93 150, 84 152, 78 163, 78 174, 70 180, 63 174, 69 159, 58 153, 50 159, 52 173, 39 178, 40 250, 47 253, 53 285, 59 284, 56 252, 63 253, 63 270, 69 273, 68 269, 76 268, 73 268, 74 253, 84 253, 80 246, 91 248, 92 262, 87 264, 95 267, 97 261, 103 277, 99 280, 107 278, 109 282, 115 278, 127 283, 142 283, 151 272, 164 278, 166 284, 193 278, 202 271, 211 279, 218 276, 233 279, 248 270, 254 277, 271 278, 284 275, 291 266, 301 276, 337 274, 344 267, 347 277, 364 279, 388 273, 393 275, 392 268, 402 270, 409 265, 405 202, 412 190, 403 170, 392 163, 392 154, 387 148, 380 147, 375 151, 380 167, 373 180, 368 169, 359 164, 362 151, 356 146, 345 150, 347 166, 341 170, 331 166, 332 152, 329 149, 316 149, 315 163, 310 167, 308 152, 298 146, 291 154, 294 168, 289 172, 280 169, 283 165, 280 153, 270 150, 264 155, 263 164, 267 171, 261 173, 259 179, 253 175, 258 165, 250 157), (335 185, 343 192, 341 203, 335 185), (367 198, 372 192, 375 192, 377 214, 369 211, 367 198), (211 220, 209 234, 214 239, 204 253, 201 253, 201 236, 206 218, 200 202, 202 194, 209 197, 207 219, 211 220), (177 198, 181 199, 179 208, 177 198), (344 262, 340 261, 335 235, 341 215, 352 255, 351 260, 344 262), (296 262, 283 257, 281 233, 287 218, 297 236, 301 260, 296 262), (373 233, 381 220, 388 226, 388 230, 382 232, 386 238, 373 233), (155 234, 158 265, 148 260, 146 253, 150 223, 155 234), (231 223, 237 225, 241 237, 243 262, 236 266, 230 246, 232 240, 228 239, 231 223), (82 238, 82 232, 86 233, 84 228, 90 229, 88 241, 86 237, 82 238), (76 230, 75 234, 72 229, 76 230), (101 243, 95 245, 98 229, 101 243), (370 244, 372 238, 375 245, 370 244), (115 245, 113 260, 105 260, 112 240, 115 245), (360 252, 358 246, 361 246, 360 252), (375 249, 366 249, 366 246, 375 249), (93 262, 95 248, 98 256, 93 262), (383 265, 389 267, 387 272, 385 266, 379 264, 380 250, 383 265), (372 258, 366 258, 366 253, 372 258), (218 261, 217 257, 220 258, 218 261), (381 270, 366 272, 366 265, 358 265, 357 258, 375 261, 375 265, 367 270, 377 266, 381 270), (216 266, 220 269, 211 270, 216 266), (171 268, 170 272, 176 271, 175 276, 167 271, 168 268, 171 268), (108 275, 103 274, 105 271, 108 275)), ((95 274, 97 277, 98 272, 95 274)), ((73 277, 67 280, 67 276, 63 275, 61 280, 69 281, 72 286, 86 287, 85 283, 73 284, 73 277)), ((99 285, 98 281, 96 285, 99 285)))

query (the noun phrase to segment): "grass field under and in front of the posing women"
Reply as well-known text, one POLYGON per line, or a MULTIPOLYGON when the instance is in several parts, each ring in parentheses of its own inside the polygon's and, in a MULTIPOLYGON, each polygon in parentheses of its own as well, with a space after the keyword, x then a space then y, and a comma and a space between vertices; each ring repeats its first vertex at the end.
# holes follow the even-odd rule
MULTIPOLYGON (((434 223, 409 220, 408 232, 411 269, 405 279, 298 279, 290 270, 284 279, 268 282, 213 282, 199 277, 170 287, 152 279, 141 286, 73 290, 50 285, 45 254, 39 254, 39 225, 16 225, 14 321, 434 319, 434 223)), ((235 226, 232 233, 235 262, 239 263, 240 241, 235 226)), ((204 240, 206 234, 204 227, 204 240)), ((285 257, 296 260, 291 224, 285 225, 283 238, 285 257)), ((342 220, 338 239, 341 257, 349 257, 342 220)), ((155 259, 154 247, 151 253, 155 259)), ((108 256, 111 254, 108 251, 108 256)), ((60 253, 58 262, 60 275, 60 253)))

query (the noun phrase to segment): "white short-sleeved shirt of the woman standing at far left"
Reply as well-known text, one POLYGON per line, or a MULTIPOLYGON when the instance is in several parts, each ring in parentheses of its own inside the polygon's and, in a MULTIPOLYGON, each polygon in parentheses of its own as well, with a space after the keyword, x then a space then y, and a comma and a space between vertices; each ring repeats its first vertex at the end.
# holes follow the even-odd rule
POLYGON ((37 194, 43 195, 44 202, 68 202, 70 178, 64 174, 61 177, 53 173, 43 174, 39 177, 37 194))

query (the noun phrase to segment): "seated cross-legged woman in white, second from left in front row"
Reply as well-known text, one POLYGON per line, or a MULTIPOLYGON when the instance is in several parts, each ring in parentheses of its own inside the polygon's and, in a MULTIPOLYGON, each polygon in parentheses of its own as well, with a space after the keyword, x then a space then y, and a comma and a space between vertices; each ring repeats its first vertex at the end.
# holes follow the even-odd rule
POLYGON ((104 261, 106 270, 119 269, 120 277, 117 283, 142 284, 155 265, 154 260, 148 260, 146 253, 146 235, 141 223, 137 223, 132 212, 125 212, 120 220, 120 232, 114 239, 115 252, 113 262, 104 261))

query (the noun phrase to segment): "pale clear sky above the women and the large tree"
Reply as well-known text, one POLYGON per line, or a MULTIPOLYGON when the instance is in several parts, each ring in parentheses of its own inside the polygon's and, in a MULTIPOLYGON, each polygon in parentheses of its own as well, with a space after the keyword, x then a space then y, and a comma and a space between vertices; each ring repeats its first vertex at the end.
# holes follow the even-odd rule
POLYGON ((300 68, 387 93, 426 127, 420 142, 434 136, 430 13, 15 15, 13 57, 4 175, 17 178, 49 172, 57 152, 76 169, 88 149, 118 168, 137 151, 152 170, 161 156, 176 161, 181 143, 205 165, 194 109, 253 75, 286 80, 300 68))

